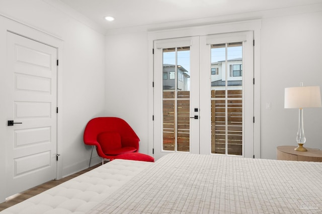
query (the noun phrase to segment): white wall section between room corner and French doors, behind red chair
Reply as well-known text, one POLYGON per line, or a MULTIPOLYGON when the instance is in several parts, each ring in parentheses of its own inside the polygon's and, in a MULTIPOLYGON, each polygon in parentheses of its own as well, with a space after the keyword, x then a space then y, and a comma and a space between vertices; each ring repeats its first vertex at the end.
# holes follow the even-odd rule
MULTIPOLYGON (((141 153, 148 153, 148 48, 146 32, 106 37, 107 116, 127 121, 140 138, 141 153)), ((150 50, 152 51, 152 50, 150 50)), ((153 72, 153 71, 149 71, 153 72)))

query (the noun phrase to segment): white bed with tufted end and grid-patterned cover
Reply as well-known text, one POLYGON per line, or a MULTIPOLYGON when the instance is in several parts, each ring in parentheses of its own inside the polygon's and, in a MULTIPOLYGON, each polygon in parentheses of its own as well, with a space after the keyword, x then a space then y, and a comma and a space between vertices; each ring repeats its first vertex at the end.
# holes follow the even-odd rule
POLYGON ((322 213, 322 163, 187 153, 113 160, 4 211, 70 212, 322 213), (112 181, 111 171, 127 173, 112 181), (100 184, 85 182, 93 179, 100 184))

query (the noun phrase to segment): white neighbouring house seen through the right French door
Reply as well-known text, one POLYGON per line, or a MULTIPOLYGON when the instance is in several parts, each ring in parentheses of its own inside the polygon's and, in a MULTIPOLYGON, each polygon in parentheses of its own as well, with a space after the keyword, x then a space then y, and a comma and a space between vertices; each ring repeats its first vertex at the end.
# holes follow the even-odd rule
MULTIPOLYGON (((211 87, 225 86, 226 61, 211 63, 211 87)), ((243 82, 243 58, 227 60, 227 85, 229 89, 241 89, 243 82)))

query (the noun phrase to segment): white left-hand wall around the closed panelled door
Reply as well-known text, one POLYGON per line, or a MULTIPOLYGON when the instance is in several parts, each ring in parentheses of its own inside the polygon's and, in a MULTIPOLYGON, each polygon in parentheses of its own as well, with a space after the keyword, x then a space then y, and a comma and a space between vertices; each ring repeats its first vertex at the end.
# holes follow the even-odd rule
MULTIPOLYGON (((84 128, 91 118, 102 116, 105 111, 104 35, 41 0, 0 0, 0 15, 61 38, 63 50, 58 70, 59 174, 65 176, 87 168, 91 148, 84 145, 84 128)), ((0 16, 1 77, 6 65, 6 50, 3 48, 6 47, 5 22, 11 21, 0 16)), ((24 35, 25 32, 17 33, 24 35)), ((3 78, 0 79, 3 83, 3 78)), ((0 100, 4 100, 4 84, 0 85, 0 100)), ((2 102, 1 109, 4 106, 2 102)), ((4 111, 0 111, 0 171, 6 171, 4 118, 4 111)), ((5 175, 1 173, 0 201, 4 200, 5 184, 5 175)))

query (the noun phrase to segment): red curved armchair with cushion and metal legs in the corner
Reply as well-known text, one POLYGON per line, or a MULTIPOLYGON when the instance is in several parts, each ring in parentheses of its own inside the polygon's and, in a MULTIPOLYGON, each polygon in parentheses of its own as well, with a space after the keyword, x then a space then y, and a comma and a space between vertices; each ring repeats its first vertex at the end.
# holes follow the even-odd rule
POLYGON ((84 131, 84 143, 93 146, 92 154, 96 147, 102 164, 104 160, 112 160, 117 155, 138 152, 139 141, 131 126, 118 117, 94 118, 88 122, 84 131))

